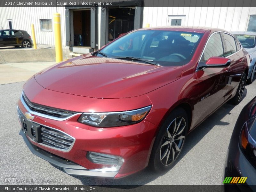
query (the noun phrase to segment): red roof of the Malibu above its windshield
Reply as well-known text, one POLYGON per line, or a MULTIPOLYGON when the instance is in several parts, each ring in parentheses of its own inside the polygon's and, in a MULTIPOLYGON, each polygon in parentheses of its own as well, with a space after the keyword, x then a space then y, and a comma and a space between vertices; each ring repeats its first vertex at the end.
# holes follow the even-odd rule
POLYGON ((208 30, 212 32, 215 31, 223 31, 230 33, 224 29, 219 28, 210 28, 210 27, 195 27, 195 26, 159 26, 159 27, 149 27, 149 28, 141 28, 139 30, 175 30, 175 31, 187 31, 187 32, 196 32, 196 33, 205 33, 208 30))

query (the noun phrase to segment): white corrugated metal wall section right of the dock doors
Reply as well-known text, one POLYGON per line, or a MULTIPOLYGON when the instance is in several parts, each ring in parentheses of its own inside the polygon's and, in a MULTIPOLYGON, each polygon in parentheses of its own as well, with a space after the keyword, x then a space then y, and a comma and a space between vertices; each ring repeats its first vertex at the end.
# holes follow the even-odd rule
POLYGON ((168 16, 186 15, 185 26, 222 28, 245 31, 256 7, 144 7, 143 26, 168 25, 168 16), (153 14, 152 14, 153 13, 153 14))

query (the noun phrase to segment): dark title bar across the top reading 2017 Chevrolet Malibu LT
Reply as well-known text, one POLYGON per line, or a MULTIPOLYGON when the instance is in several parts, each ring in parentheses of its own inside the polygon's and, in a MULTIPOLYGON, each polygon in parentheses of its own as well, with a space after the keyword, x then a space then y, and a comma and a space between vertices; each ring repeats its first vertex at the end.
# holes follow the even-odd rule
POLYGON ((0 7, 256 7, 256 0, 1 0, 0 7))

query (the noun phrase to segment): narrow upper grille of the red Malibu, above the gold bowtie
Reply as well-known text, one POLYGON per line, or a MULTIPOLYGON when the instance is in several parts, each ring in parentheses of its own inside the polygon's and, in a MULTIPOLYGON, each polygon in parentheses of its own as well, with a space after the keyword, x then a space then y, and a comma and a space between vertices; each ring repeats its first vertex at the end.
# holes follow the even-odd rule
POLYGON ((22 99, 24 100, 24 102, 27 104, 28 108, 31 111, 35 111, 40 114, 57 117, 57 118, 67 118, 67 117, 75 115, 77 113, 76 111, 68 111, 68 110, 64 110, 64 109, 52 108, 52 107, 32 103, 27 98, 27 96, 25 95, 24 92, 22 94, 22 99))

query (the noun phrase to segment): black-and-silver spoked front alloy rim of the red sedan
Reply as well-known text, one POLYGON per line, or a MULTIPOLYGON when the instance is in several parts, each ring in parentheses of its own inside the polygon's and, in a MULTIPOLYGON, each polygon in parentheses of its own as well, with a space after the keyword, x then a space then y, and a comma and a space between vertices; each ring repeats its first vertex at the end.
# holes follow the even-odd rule
POLYGON ((183 117, 175 118, 168 126, 160 146, 160 161, 170 165, 180 153, 185 139, 186 121, 183 117))

